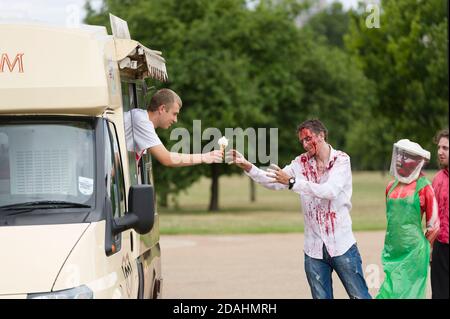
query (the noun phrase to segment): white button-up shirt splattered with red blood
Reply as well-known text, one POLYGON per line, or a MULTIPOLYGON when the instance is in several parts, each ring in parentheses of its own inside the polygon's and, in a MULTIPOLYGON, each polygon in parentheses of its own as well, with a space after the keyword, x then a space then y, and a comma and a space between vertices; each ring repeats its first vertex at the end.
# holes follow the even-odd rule
MULTIPOLYGON (((292 190, 300 195, 305 220, 306 255, 323 258, 325 244, 331 257, 343 255, 356 243, 352 232, 350 210, 352 204, 352 171, 350 157, 331 145, 330 158, 324 173, 319 176, 315 157, 297 156, 283 171, 295 177, 292 190)), ((252 166, 245 172, 255 182, 266 188, 288 189, 287 185, 274 183, 267 172, 252 166)))

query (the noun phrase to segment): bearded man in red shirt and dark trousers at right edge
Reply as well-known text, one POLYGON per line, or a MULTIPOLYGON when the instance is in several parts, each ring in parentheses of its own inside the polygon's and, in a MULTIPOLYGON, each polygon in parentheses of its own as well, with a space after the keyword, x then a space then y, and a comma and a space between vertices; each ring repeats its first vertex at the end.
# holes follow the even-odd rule
POLYGON ((435 138, 438 145, 438 161, 441 170, 433 179, 438 203, 440 229, 434 242, 431 259, 431 292, 433 299, 449 299, 448 286, 448 129, 440 131, 435 138))

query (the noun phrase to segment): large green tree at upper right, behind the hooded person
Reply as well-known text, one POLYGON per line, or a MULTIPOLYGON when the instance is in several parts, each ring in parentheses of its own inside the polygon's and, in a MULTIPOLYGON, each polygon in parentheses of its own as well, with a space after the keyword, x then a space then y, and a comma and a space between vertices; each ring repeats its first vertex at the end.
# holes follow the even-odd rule
POLYGON ((349 139, 361 165, 386 167, 392 144, 409 138, 432 148, 448 121, 446 1, 382 1, 381 27, 360 10, 346 45, 376 86, 378 101, 349 139))

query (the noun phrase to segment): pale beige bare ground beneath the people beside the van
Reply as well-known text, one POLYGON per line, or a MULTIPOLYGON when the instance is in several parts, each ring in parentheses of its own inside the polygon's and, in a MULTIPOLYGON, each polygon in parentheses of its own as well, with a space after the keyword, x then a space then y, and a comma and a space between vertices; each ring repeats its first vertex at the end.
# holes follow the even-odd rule
MULTIPOLYGON (((355 232, 369 292, 383 282, 383 232, 355 232)), ((161 236, 163 298, 310 299, 303 234, 161 236)), ((335 298, 348 298, 333 273, 335 298)), ((428 280, 427 297, 431 296, 428 280)))

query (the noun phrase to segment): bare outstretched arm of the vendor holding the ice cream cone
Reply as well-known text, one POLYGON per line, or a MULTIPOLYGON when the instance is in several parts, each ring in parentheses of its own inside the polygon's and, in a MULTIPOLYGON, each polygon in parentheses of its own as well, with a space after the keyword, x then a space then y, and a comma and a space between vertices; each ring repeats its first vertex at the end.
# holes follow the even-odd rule
POLYGON ((218 150, 204 154, 183 154, 169 152, 163 144, 153 146, 148 150, 158 162, 168 167, 212 164, 221 163, 223 161, 223 151, 218 150))

